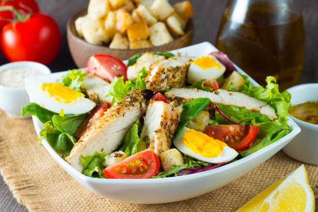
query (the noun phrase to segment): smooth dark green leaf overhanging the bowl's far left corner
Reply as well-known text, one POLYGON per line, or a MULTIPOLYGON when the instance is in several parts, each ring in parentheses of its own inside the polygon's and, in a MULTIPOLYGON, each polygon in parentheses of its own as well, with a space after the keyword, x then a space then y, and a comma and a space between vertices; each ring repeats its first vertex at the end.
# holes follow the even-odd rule
POLYGON ((52 119, 52 116, 56 113, 51 112, 37 103, 28 103, 21 109, 21 117, 24 117, 27 113, 35 115, 39 118, 42 123, 46 123, 52 119))

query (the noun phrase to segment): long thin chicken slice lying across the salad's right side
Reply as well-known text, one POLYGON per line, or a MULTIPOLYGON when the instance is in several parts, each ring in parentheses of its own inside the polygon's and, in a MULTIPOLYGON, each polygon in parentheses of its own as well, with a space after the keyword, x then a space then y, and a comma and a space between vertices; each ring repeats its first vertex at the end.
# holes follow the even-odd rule
POLYGON ((214 92, 206 92, 204 90, 198 90, 197 88, 172 88, 165 93, 165 96, 171 101, 182 100, 183 102, 205 97, 209 98, 213 104, 233 105, 246 108, 247 110, 266 115, 271 120, 278 118, 275 113, 275 109, 266 102, 243 93, 230 92, 224 89, 217 89, 214 92))

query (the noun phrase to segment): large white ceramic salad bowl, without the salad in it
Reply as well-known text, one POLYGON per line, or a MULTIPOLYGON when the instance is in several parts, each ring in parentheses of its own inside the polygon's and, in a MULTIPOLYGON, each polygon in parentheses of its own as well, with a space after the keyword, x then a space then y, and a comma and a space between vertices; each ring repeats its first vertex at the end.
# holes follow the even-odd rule
MULTIPOLYGON (((201 56, 215 50, 217 49, 212 44, 204 42, 172 52, 187 53, 189 56, 201 56)), ((237 69, 240 73, 246 74, 239 68, 237 69)), ((65 74, 66 72, 61 72, 36 78, 45 82, 55 82, 56 79, 65 74)), ((249 79, 253 85, 259 85, 253 79, 249 79)), ((37 133, 39 133, 43 124, 35 116, 33 122, 37 133)), ((209 171, 168 178, 100 179, 87 177, 60 158, 45 139, 42 140, 42 143, 55 161, 79 184, 102 197, 126 203, 166 203, 197 197, 213 191, 256 168, 277 153, 300 132, 299 127, 293 120, 289 120, 288 123, 292 129, 290 134, 250 156, 209 171)))

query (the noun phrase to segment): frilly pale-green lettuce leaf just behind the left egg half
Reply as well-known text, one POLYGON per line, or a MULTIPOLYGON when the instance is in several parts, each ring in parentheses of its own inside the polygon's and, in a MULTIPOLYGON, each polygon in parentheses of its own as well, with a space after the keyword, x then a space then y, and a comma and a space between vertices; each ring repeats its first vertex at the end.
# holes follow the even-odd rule
POLYGON ((65 86, 68 86, 76 92, 81 92, 80 86, 84 81, 84 77, 86 75, 87 74, 82 70, 73 69, 70 70, 67 75, 62 76, 62 78, 58 82, 65 86))

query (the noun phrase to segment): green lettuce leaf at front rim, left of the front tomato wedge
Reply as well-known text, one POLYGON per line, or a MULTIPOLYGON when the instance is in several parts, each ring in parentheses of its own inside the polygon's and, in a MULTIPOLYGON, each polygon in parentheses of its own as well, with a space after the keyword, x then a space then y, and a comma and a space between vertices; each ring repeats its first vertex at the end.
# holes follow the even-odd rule
POLYGON ((81 162, 84 164, 83 174, 89 177, 105 178, 103 169, 105 165, 106 152, 98 153, 95 152, 92 156, 81 155, 81 162))

